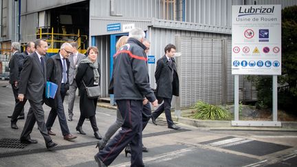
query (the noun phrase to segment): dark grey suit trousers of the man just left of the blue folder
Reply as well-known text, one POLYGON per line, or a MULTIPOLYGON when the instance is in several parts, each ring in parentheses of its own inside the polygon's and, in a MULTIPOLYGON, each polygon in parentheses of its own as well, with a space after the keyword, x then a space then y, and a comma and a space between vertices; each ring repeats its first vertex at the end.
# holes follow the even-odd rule
POLYGON ((52 138, 47 133, 47 128, 45 126, 45 118, 44 118, 44 111, 43 111, 43 102, 35 102, 29 100, 30 102, 30 109, 28 111, 27 119, 25 121, 25 125, 23 131, 21 133, 21 140, 28 140, 30 139, 30 133, 34 127, 35 122, 37 122, 37 126, 41 135, 45 140, 45 143, 52 141, 52 138))

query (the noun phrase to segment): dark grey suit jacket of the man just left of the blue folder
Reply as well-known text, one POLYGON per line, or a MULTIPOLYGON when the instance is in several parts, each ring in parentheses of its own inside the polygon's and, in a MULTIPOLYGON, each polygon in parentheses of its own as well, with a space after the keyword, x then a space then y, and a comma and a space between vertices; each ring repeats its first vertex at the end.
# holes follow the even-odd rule
POLYGON ((42 69, 41 61, 36 52, 28 55, 24 60, 20 75, 19 93, 25 94, 25 98, 28 100, 36 102, 43 101, 46 82, 46 58, 45 56, 43 58, 44 69, 42 69))

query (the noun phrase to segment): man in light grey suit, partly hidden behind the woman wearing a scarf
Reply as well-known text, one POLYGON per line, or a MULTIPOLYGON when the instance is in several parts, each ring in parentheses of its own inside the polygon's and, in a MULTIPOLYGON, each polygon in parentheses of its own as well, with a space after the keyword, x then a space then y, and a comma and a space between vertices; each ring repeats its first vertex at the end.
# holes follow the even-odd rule
POLYGON ((70 66, 69 66, 69 98, 68 98, 68 115, 69 121, 72 121, 73 117, 73 108, 74 108, 74 100, 76 95, 76 89, 78 88, 76 85, 76 80, 74 78, 76 68, 78 67, 78 63, 83 60, 86 56, 85 54, 80 54, 78 52, 78 43, 73 42, 70 43, 73 47, 73 54, 69 56, 70 66))

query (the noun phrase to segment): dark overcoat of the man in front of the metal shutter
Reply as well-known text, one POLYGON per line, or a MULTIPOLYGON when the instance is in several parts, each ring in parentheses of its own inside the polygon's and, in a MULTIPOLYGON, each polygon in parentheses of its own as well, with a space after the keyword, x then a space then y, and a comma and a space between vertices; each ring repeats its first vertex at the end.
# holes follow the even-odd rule
POLYGON ((179 96, 179 78, 174 59, 173 67, 171 67, 165 55, 157 60, 155 80, 157 83, 157 97, 171 98, 173 95, 179 96))

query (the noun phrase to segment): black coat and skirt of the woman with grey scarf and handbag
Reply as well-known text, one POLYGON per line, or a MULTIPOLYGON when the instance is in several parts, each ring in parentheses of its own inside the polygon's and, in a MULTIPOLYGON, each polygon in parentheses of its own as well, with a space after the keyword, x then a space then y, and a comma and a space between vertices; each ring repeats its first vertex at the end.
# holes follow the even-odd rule
MULTIPOLYGON (((100 65, 98 63, 98 72, 100 74, 100 65)), ((101 76, 101 75, 100 75, 101 76)), ((89 118, 96 114, 96 106, 98 98, 87 98, 87 94, 85 91, 85 85, 83 85, 83 81, 87 87, 94 87, 94 71, 92 67, 87 63, 80 63, 78 65, 78 69, 76 72, 76 84, 78 85, 78 89, 80 92, 80 114, 84 115, 85 118, 89 118)), ((99 78, 100 85, 100 78, 99 78)))

